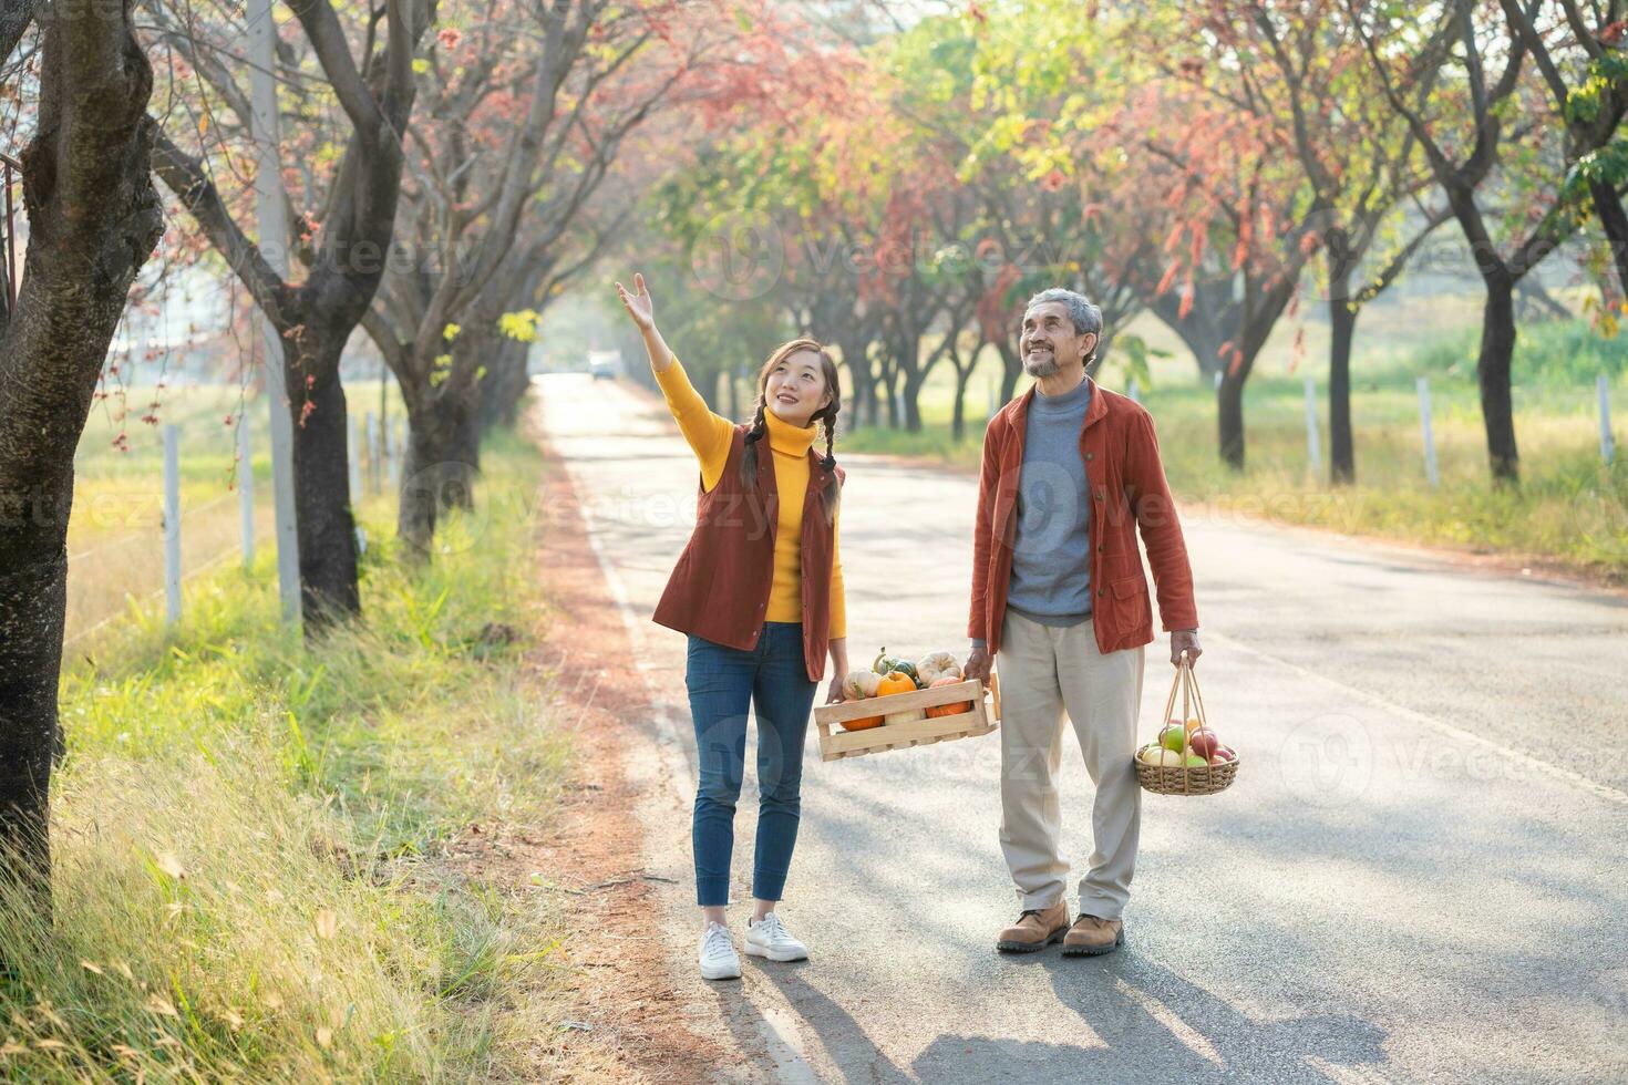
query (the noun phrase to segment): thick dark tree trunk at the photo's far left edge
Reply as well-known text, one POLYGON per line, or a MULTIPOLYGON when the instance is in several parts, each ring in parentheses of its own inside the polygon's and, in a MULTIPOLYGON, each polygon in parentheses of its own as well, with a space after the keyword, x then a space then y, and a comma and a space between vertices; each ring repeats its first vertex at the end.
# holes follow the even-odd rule
POLYGON ((49 917, 73 452, 130 283, 164 224, 145 117, 153 73, 129 2, 94 13, 41 5, 36 20, 26 270, 0 322, 0 877, 49 917))

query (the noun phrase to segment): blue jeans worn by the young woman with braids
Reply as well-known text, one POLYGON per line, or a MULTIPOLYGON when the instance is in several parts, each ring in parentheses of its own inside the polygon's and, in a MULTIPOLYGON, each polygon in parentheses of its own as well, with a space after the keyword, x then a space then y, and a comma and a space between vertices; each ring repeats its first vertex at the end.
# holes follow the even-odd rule
POLYGON ((752 896, 780 900, 798 843, 803 739, 819 683, 803 664, 803 623, 765 621, 757 647, 741 651, 690 636, 684 682, 695 717, 700 784, 690 839, 695 903, 729 903, 734 804, 746 774, 746 712, 757 716, 757 852, 752 896))

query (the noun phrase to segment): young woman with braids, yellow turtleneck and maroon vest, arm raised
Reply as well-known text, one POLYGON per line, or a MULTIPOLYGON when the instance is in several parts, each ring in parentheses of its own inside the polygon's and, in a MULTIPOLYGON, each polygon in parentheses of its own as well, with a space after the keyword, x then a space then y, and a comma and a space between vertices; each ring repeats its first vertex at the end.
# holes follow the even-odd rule
POLYGON ((700 760, 690 836, 702 976, 734 979, 741 958, 724 926, 724 904, 749 708, 757 719, 759 813, 746 952, 772 961, 807 956, 775 904, 798 839, 803 740, 827 652, 834 670, 827 703, 842 699, 848 672, 837 558, 843 472, 832 455, 842 392, 825 348, 799 338, 775 348, 757 374, 752 421, 721 418, 656 330, 645 277, 633 277, 633 293, 622 283, 615 290, 702 468, 695 534, 654 621, 689 634, 684 682, 700 760), (814 451, 819 438, 824 455, 814 451))

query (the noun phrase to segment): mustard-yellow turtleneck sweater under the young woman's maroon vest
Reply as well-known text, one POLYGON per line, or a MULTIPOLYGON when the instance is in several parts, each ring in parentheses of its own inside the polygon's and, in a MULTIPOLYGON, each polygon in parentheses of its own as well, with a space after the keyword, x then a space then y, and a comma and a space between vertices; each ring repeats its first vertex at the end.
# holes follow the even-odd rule
MULTIPOLYGON (((656 374, 667 410, 679 423, 679 431, 702 462, 702 485, 711 490, 723 477, 729 459, 729 438, 734 423, 707 408, 707 400, 684 374, 677 356, 672 364, 656 374)), ((775 582, 768 589, 765 621, 803 621, 803 496, 809 485, 809 447, 814 444, 814 426, 793 426, 772 410, 764 412, 768 426, 768 447, 775 454, 775 490, 780 493, 780 514, 775 529, 775 582)), ((830 540, 830 639, 848 636, 847 600, 842 589, 842 553, 837 548, 842 527, 842 508, 832 522, 830 540)))

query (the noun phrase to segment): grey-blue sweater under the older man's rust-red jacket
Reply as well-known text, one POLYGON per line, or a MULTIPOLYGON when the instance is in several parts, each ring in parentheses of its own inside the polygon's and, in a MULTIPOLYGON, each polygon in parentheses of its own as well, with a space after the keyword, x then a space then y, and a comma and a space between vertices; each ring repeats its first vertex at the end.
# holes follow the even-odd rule
POLYGON ((1035 389, 1024 421, 1006 607, 1040 625, 1091 617, 1091 486, 1079 459, 1089 405, 1086 381, 1061 395, 1035 389))

